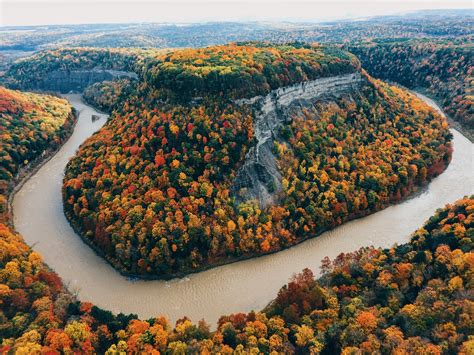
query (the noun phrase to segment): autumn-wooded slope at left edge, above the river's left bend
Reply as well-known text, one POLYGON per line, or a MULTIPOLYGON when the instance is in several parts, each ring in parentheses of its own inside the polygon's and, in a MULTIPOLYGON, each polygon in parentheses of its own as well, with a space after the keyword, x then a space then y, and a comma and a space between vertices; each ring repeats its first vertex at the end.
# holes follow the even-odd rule
POLYGON ((36 95, 0 86, 0 222, 20 169, 53 151, 74 125, 71 105, 50 95, 36 95))

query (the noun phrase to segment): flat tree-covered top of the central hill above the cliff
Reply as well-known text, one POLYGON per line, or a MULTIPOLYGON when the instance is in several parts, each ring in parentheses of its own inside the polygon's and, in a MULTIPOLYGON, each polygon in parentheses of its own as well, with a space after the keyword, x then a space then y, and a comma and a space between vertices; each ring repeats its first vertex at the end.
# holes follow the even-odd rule
POLYGON ((150 61, 145 77, 178 98, 223 94, 233 98, 354 72, 359 61, 335 47, 294 43, 235 43, 172 51, 150 61))

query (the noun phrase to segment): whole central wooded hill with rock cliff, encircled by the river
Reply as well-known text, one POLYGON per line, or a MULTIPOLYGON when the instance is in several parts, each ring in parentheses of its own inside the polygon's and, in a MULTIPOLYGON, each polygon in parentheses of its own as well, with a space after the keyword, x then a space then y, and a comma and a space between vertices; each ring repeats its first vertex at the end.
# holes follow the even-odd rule
POLYGON ((175 51, 147 61, 136 90, 63 189, 71 224, 126 274, 281 250, 405 198, 450 160, 440 115, 333 47, 175 51))

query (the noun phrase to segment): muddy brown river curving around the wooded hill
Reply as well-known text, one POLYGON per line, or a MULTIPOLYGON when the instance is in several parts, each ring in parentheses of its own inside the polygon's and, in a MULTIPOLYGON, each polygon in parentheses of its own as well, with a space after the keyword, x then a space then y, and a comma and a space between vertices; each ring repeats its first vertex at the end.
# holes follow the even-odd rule
MULTIPOLYGON (((79 95, 67 95, 80 111, 71 138, 34 174, 13 200, 14 225, 82 301, 140 318, 184 315, 204 318, 212 327, 220 315, 260 310, 288 279, 303 268, 319 271, 321 259, 362 246, 405 243, 437 208, 473 193, 473 144, 452 130, 454 153, 446 171, 416 197, 368 217, 351 221, 318 238, 276 254, 220 266, 183 279, 132 281, 116 272, 84 244, 63 214, 64 168, 80 144, 105 122, 106 115, 86 106, 79 95), (91 122, 91 115, 100 120, 91 122)), ((436 104, 427 101, 430 105, 436 104)))

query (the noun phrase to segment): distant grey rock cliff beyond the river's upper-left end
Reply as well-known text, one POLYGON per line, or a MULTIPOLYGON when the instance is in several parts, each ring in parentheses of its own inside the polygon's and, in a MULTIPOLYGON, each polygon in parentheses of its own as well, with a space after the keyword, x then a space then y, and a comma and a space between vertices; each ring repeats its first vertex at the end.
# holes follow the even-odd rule
POLYGON ((137 78, 137 74, 106 69, 56 70, 48 73, 43 80, 37 81, 31 89, 50 90, 60 93, 82 92, 86 87, 94 83, 123 77, 137 78))

